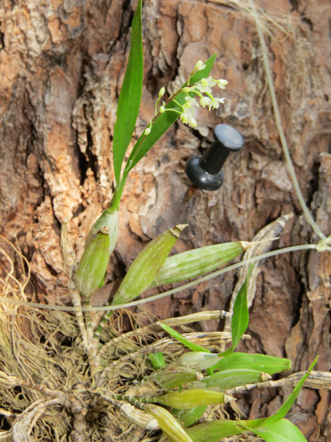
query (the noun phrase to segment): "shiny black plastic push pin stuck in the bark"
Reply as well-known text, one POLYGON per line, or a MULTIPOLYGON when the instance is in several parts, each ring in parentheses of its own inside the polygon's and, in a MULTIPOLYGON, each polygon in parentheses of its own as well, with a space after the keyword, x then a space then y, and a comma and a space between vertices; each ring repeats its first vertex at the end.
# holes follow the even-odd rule
POLYGON ((223 184, 221 170, 230 152, 239 152, 245 140, 237 129, 228 124, 214 128, 214 143, 204 155, 190 158, 185 164, 186 175, 194 186, 206 191, 217 191, 223 184))

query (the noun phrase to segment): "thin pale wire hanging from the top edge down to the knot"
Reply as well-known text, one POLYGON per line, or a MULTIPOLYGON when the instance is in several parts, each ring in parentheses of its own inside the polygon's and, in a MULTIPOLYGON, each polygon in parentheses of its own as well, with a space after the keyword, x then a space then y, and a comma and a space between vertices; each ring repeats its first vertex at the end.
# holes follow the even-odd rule
POLYGON ((268 87, 269 87, 269 91, 270 91, 270 95, 271 95, 272 107, 274 108, 274 119, 276 122, 277 130, 279 132, 279 137, 281 139, 281 145, 283 147, 285 160, 286 160, 286 163, 288 164, 288 171, 290 172, 293 186, 294 186, 294 189, 297 193, 299 203, 301 205, 301 209, 303 210, 303 213, 305 214, 305 219, 311 225, 312 229, 317 234, 317 236, 319 236, 319 238, 321 238, 321 240, 325 240, 325 238, 326 238, 325 235, 323 234, 323 232, 321 231, 319 226, 316 224, 316 222, 314 222, 314 218, 312 218, 312 214, 310 213, 307 205, 305 204, 305 200, 303 200, 303 195, 302 195, 301 189, 299 187, 297 176, 295 175, 294 167, 293 167, 292 160, 290 157, 290 152, 288 150, 288 144, 286 142, 285 134, 283 131, 283 126, 281 125, 281 116, 279 114, 279 108, 278 108, 278 104, 277 104, 276 94, 274 93, 274 84, 272 81, 272 75, 271 75, 270 65, 269 65, 268 55, 267 55, 267 46, 265 45, 265 41, 263 38, 261 26, 259 23, 259 19, 257 17, 257 11, 255 9, 253 0, 250 0, 250 5, 252 6, 252 14, 254 16, 255 26, 257 27, 257 33, 259 35, 259 41, 261 44, 262 57, 263 57, 263 64, 264 64, 264 68, 265 68, 265 75, 266 75, 267 81, 268 81, 268 87))

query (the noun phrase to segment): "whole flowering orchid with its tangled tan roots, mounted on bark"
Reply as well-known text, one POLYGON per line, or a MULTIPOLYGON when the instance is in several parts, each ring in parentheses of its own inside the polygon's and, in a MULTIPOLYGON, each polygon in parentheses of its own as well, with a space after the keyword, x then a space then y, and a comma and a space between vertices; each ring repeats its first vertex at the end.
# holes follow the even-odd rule
MULTIPOLYGON (((172 328, 220 318, 219 311, 172 318, 147 327, 134 324, 132 332, 123 334, 121 327, 114 329, 114 324, 108 320, 115 309, 146 302, 146 299, 135 299, 151 287, 199 277, 179 288, 148 298, 148 301, 277 253, 304 249, 330 250, 330 237, 325 238, 318 228, 316 231, 321 240, 316 245, 304 244, 263 253, 277 230, 271 229, 272 235, 265 234, 259 241, 216 244, 168 257, 186 227, 186 224, 177 224, 154 238, 139 253, 114 294, 111 305, 90 306, 93 294, 103 285, 110 253, 116 247, 118 211, 130 171, 178 118, 195 127, 194 108, 199 104, 210 111, 218 108, 224 99, 214 97, 212 90, 215 86, 223 89, 227 84, 224 79, 210 77, 216 58, 216 55, 212 55, 204 63, 197 61, 188 81, 170 97, 163 98, 165 89, 162 88, 155 104, 154 117, 123 166, 136 126, 143 85, 141 3, 142 0, 139 0, 132 22, 128 67, 114 126, 114 194, 110 205, 88 234, 78 265, 68 240, 68 219, 63 222, 61 229, 63 262, 76 315, 68 312, 72 311, 70 307, 40 306, 26 302, 24 287, 29 275, 25 275, 24 269, 29 267, 28 262, 21 265, 21 280, 14 275, 13 269, 3 280, 4 287, 12 287, 10 281, 14 280, 14 288, 8 289, 8 294, 16 297, 17 305, 15 299, 6 298, 8 305, 12 302, 12 308, 20 309, 22 317, 28 316, 38 327, 33 336, 24 340, 20 324, 12 324, 8 319, 17 311, 6 311, 10 307, 3 307, 6 318, 1 328, 1 339, 6 352, 3 352, 0 361, 3 367, 0 372, 0 387, 3 390, 0 413, 10 428, 0 433, 0 440, 85 442, 103 438, 108 441, 120 432, 121 440, 125 440, 128 422, 132 422, 144 431, 163 430, 162 435, 148 433, 147 439, 144 439, 146 441, 217 442, 247 432, 267 442, 305 441, 298 428, 284 417, 308 376, 318 376, 312 372, 317 359, 308 372, 300 375, 301 380, 292 394, 272 416, 258 420, 230 420, 217 419, 217 414, 209 412, 208 419, 203 418, 210 410, 209 405, 223 406, 229 403, 235 407, 234 394, 241 389, 274 386, 270 384, 272 375, 291 366, 291 362, 285 358, 234 352, 241 339, 250 338, 245 331, 248 327, 248 287, 251 273, 254 272, 252 265, 238 291, 233 315, 223 315, 231 318, 230 333, 214 332, 201 336, 180 334, 172 328), (257 256, 245 258, 236 265, 206 276, 206 273, 237 258, 246 250, 255 251, 261 244, 267 245, 257 256), (54 311, 45 313, 43 323, 39 325, 40 320, 32 307, 51 307, 54 311), (62 310, 61 314, 56 309, 62 310), (101 318, 97 313, 99 311, 105 312, 106 316, 101 318), (72 347, 61 345, 57 339, 59 330, 72 340, 72 347), (163 332, 172 337, 159 338, 163 332), (15 340, 12 336, 20 339, 15 340), (17 347, 17 340, 20 340, 21 347, 17 347), (230 345, 225 349, 228 342, 230 345), (191 351, 183 352, 185 347, 191 351), (26 357, 25 364, 21 361, 22 354, 30 356, 26 357), (19 361, 19 364, 15 365, 15 361, 19 361)), ((310 221, 314 223, 312 219, 310 221)), ((14 253, 21 256, 19 249, 14 248, 14 253)), ((12 262, 8 255, 6 258, 12 262)), ((133 314, 128 316, 133 318, 133 323, 137 320, 133 314)), ((289 383, 292 383, 291 379, 289 383)), ((137 430, 131 440, 138 441, 143 434, 137 430)))

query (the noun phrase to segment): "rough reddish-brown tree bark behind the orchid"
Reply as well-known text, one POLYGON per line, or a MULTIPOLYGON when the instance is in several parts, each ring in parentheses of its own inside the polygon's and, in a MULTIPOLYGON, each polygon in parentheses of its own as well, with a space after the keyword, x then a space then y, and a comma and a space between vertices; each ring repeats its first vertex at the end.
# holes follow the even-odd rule
MULTIPOLYGON (((134 3, 3 0, 0 6, 1 234, 18 238, 41 302, 68 297, 59 246, 63 218, 72 218, 71 239, 81 256, 88 230, 110 202, 112 131, 134 3)), ((328 235, 330 1, 255 3, 268 31, 268 57, 299 184, 328 235)), ((228 79, 229 85, 219 110, 199 111, 199 131, 176 124, 132 171, 110 275, 115 267, 127 269, 144 244, 181 222, 190 227, 176 251, 252 240, 265 224, 290 212, 294 218, 277 247, 317 241, 301 215, 285 166, 247 4, 144 1, 145 82, 137 136, 152 117, 159 89, 186 79, 198 59, 217 52, 212 75, 228 79), (221 122, 243 133, 245 148, 228 160, 220 191, 198 190, 183 204, 190 187, 185 161, 210 144, 212 128, 221 122)), ((296 371, 319 354, 317 369, 330 371, 330 270, 329 252, 266 261, 250 313, 252 340, 241 349, 286 356, 296 371)), ((119 276, 115 272, 109 280, 119 276)), ((146 309, 159 318, 226 309, 233 285, 233 275, 226 275, 146 309)), ((252 392, 240 405, 256 419, 276 410, 288 392, 252 392)), ((330 441, 330 393, 304 389, 290 419, 308 440, 330 441)))

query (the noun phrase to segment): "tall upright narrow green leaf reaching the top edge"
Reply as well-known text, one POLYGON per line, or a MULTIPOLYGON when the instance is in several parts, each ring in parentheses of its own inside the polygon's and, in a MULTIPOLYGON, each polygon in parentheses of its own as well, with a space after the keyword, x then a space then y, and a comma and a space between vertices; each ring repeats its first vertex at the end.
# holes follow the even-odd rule
POLYGON ((121 166, 124 155, 130 143, 136 125, 141 93, 143 90, 143 41, 141 26, 141 2, 138 1, 137 10, 132 21, 131 47, 124 76, 119 104, 117 105, 117 119, 114 126, 113 154, 114 174, 117 186, 121 177, 121 166))

